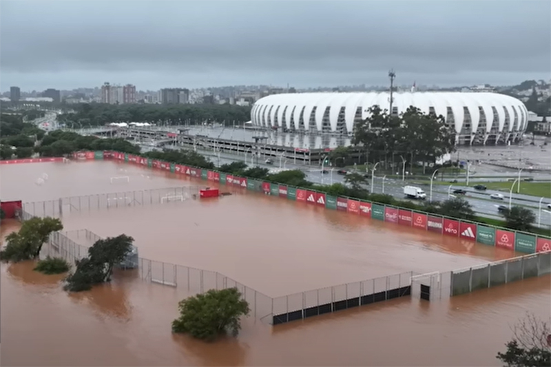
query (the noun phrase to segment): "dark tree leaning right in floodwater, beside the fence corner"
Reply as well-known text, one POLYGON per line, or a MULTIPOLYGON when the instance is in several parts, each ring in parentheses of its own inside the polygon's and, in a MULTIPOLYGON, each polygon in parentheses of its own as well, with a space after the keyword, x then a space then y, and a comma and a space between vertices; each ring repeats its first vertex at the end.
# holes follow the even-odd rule
POLYGON ((94 284, 110 282, 114 266, 121 264, 132 251, 134 238, 118 235, 98 240, 88 249, 88 257, 76 261, 74 273, 65 280, 65 290, 87 291, 94 284))

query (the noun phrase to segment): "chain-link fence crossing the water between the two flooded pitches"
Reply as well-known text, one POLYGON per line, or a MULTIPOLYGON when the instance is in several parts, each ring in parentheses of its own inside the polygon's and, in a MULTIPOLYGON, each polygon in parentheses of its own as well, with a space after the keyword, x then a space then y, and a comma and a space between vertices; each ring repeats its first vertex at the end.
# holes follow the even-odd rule
POLYGON ((198 195, 198 186, 98 193, 59 198, 57 200, 25 202, 23 203, 23 211, 36 217, 59 218, 67 213, 183 202, 196 199, 198 195))

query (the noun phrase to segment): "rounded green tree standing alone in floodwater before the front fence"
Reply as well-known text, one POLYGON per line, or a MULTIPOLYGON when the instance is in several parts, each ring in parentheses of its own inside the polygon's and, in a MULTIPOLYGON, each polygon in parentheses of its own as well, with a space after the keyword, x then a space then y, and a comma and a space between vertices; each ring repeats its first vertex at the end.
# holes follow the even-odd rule
POLYGON ((197 339, 212 341, 220 334, 236 336, 241 328, 240 317, 249 315, 249 303, 241 300, 236 288, 189 297, 178 303, 180 317, 172 322, 173 333, 188 333, 197 339))

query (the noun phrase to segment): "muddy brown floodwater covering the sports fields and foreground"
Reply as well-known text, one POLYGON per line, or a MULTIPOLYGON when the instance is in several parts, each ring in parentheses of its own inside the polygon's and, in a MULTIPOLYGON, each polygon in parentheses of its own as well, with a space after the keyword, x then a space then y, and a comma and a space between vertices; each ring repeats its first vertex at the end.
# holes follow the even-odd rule
MULTIPOLYGON (((0 178, 2 199, 23 201, 205 185, 114 162, 2 166, 0 178), (48 179, 37 185, 43 174, 48 179), (130 180, 111 184, 112 176, 130 180)), ((127 233, 144 258, 219 271, 271 296, 514 255, 239 190, 207 202, 72 213, 63 221, 69 230, 127 233)), ((4 221, 2 236, 17 226, 4 221)), ((204 344, 170 333, 183 289, 119 274, 112 284, 67 295, 59 276, 32 268, 1 265, 3 366, 498 366, 495 354, 510 338, 510 324, 528 310, 550 314, 546 276, 430 304, 398 299, 273 328, 251 317, 237 339, 204 344)))

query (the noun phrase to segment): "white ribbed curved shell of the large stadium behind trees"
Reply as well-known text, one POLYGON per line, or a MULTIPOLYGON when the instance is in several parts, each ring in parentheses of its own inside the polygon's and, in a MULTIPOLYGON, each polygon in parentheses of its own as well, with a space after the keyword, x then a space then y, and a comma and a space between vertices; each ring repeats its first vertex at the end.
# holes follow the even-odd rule
MULTIPOLYGON (((260 98, 251 110, 251 122, 290 132, 351 134, 368 116, 368 108, 388 109, 384 93, 292 93, 260 98)), ((410 92, 393 94, 392 114, 410 106, 444 116, 454 127, 459 145, 514 143, 528 124, 528 110, 517 98, 497 93, 410 92)))

